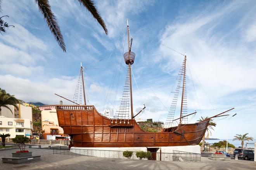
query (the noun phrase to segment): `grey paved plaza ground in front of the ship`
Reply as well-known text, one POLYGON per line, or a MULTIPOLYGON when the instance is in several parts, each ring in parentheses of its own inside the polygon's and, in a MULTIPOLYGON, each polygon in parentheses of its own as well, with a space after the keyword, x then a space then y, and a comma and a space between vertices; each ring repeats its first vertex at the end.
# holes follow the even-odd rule
MULTIPOLYGON (((0 158, 10 157, 16 151, 0 151, 0 158)), ((89 156, 53 155, 52 150, 29 148, 33 155, 42 155, 40 161, 24 164, 8 164, 0 162, 0 170, 255 170, 256 162, 231 160, 214 161, 201 158, 201 162, 165 162, 152 160, 127 160, 97 158, 89 156)))

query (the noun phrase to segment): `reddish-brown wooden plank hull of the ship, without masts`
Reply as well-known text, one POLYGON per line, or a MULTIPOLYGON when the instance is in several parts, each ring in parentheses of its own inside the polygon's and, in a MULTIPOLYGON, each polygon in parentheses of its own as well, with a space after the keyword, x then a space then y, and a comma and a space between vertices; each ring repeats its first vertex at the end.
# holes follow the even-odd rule
POLYGON ((134 120, 111 120, 93 105, 56 105, 59 126, 76 147, 159 147, 198 145, 209 121, 144 132, 134 120))

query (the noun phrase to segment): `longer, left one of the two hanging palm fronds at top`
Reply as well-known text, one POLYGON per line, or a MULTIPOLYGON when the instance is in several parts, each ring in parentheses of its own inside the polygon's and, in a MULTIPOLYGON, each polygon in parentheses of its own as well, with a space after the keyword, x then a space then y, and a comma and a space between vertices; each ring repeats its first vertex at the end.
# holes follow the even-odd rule
POLYGON ((43 14, 44 19, 47 22, 50 31, 55 37, 55 40, 58 42, 59 46, 64 52, 66 52, 66 46, 61 34, 61 29, 58 25, 57 19, 55 18, 54 13, 51 10, 51 6, 48 0, 35 0, 35 3, 38 5, 38 9, 43 14))

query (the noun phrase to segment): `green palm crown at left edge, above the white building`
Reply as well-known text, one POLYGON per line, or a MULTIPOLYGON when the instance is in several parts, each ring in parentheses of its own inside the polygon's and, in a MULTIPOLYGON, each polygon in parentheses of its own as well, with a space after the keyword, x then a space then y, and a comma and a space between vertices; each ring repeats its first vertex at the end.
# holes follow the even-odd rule
MULTIPOLYGON (((14 95, 10 95, 9 93, 6 93, 5 90, 0 88, 0 115, 1 115, 1 111, 2 111, 1 107, 5 107, 12 112, 10 107, 8 107, 7 105, 13 105, 17 110, 19 110, 19 107, 17 106, 17 104, 19 104, 19 103, 23 103, 23 101, 16 99, 14 97, 14 95)), ((13 112, 12 112, 12 114, 13 114, 13 112)))

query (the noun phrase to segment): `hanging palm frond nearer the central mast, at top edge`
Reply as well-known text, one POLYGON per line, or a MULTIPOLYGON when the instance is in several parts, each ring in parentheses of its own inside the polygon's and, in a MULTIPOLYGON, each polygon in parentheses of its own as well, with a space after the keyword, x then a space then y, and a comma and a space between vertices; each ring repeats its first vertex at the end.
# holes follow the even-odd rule
POLYGON ((97 8, 95 7, 94 2, 92 0, 78 0, 78 1, 92 14, 93 18, 98 21, 98 23, 102 26, 105 33, 107 34, 106 24, 102 19, 102 17, 100 16, 97 8))

